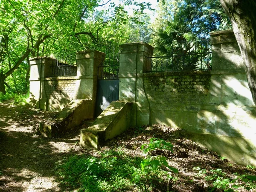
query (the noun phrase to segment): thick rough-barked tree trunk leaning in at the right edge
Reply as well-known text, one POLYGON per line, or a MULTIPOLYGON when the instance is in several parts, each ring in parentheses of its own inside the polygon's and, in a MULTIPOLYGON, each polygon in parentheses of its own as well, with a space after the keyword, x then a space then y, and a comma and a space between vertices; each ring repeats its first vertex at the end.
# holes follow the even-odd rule
POLYGON ((220 0, 238 42, 253 102, 256 104, 256 1, 220 0))

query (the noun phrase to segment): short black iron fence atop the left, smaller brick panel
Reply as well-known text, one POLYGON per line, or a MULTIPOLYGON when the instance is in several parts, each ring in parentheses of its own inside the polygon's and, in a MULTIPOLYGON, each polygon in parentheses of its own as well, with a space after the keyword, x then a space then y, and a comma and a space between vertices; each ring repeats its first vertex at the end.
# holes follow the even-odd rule
POLYGON ((52 77, 76 76, 76 64, 69 64, 67 60, 54 58, 52 60, 52 77))

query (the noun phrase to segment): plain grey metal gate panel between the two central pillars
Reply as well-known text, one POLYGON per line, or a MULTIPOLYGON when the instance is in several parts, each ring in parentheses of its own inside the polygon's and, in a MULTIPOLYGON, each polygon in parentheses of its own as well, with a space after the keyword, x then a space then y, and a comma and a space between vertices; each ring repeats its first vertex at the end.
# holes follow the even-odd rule
POLYGON ((98 117, 108 105, 119 99, 119 79, 98 80, 95 116, 98 117))

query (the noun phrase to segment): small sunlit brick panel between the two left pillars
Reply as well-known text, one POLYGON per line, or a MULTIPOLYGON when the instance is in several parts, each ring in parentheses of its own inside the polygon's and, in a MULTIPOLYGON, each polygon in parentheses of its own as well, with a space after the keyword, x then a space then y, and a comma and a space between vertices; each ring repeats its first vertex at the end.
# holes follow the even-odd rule
POLYGON ((73 99, 75 94, 76 80, 47 80, 45 92, 48 99, 73 99))

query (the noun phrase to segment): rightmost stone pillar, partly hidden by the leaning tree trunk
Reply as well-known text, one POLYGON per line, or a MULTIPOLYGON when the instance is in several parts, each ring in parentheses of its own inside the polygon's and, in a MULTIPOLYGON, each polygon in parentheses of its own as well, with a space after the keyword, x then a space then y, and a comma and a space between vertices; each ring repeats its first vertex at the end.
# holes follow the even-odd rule
POLYGON ((239 46, 233 30, 210 33, 212 42, 212 79, 210 105, 254 106, 239 46), (238 85, 244 82, 241 87, 238 85), (239 90, 239 89, 244 90, 239 90), (243 93, 240 95, 240 93, 243 93), (235 101, 235 102, 234 102, 235 101))

